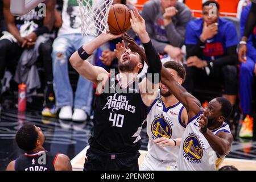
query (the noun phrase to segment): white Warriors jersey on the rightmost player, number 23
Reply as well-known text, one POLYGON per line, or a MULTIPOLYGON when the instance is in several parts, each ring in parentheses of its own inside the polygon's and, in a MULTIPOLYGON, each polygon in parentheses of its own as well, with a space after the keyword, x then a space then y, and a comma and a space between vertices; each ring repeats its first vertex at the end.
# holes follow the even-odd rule
MULTIPOLYGON (((179 171, 217 170, 226 156, 219 156, 200 132, 198 122, 200 114, 202 112, 188 122, 183 134, 177 162, 177 170, 179 171)), ((212 130, 212 133, 217 135, 220 131, 230 133, 228 123, 224 123, 218 129, 212 130)))

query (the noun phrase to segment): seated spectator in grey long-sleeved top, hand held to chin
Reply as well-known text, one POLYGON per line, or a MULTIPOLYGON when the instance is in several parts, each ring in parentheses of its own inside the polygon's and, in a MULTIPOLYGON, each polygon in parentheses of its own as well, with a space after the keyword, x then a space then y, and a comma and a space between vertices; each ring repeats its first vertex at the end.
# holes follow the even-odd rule
POLYGON ((144 3, 142 16, 156 51, 172 59, 183 60, 180 47, 185 42, 185 31, 191 10, 177 0, 152 0, 144 3))

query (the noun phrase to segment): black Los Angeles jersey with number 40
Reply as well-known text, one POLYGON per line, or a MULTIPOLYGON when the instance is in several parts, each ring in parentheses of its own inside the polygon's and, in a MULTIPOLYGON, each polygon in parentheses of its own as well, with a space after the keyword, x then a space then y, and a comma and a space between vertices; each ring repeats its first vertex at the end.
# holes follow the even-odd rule
POLYGON ((141 147, 141 129, 147 116, 139 91, 139 80, 122 87, 119 74, 112 73, 104 91, 96 93, 91 148, 109 153, 135 152, 141 147))

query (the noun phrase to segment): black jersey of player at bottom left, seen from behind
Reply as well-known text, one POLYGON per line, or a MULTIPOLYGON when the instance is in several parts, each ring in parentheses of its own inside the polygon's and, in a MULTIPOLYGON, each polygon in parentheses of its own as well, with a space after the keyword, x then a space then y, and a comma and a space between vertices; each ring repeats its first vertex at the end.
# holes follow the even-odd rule
POLYGON ((15 160, 15 171, 55 171, 54 163, 57 155, 47 151, 20 155, 15 160))

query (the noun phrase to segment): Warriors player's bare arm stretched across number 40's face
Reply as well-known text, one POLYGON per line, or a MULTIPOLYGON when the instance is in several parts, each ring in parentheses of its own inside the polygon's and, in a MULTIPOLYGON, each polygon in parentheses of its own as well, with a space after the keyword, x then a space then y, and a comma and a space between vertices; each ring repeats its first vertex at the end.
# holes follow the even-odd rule
MULTIPOLYGON (((139 55, 141 55, 144 61, 146 61, 146 63, 148 64, 148 61, 147 61, 148 56, 146 56, 146 53, 144 52, 144 50, 138 46, 135 40, 127 34, 123 35, 122 38, 129 43, 128 47, 131 49, 131 51, 138 52, 139 55)), ((166 85, 168 89, 177 98, 177 100, 179 100, 185 106, 189 115, 188 119, 191 119, 196 114, 200 113, 201 111, 200 101, 197 100, 197 98, 192 96, 190 93, 188 93, 187 90, 183 88, 183 86, 177 83, 174 77, 171 75, 171 73, 168 72, 168 70, 164 67, 162 67, 162 71, 161 71, 161 82, 164 85, 166 85)))

